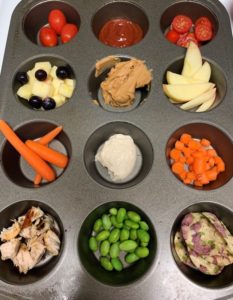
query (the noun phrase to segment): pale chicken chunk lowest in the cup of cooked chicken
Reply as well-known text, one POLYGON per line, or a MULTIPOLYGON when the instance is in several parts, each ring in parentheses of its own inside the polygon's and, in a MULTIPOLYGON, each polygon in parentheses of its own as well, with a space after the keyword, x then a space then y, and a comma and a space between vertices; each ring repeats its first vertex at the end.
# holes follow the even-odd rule
POLYGON ((20 273, 27 274, 28 270, 34 267, 34 261, 25 244, 21 244, 18 254, 14 257, 13 263, 18 267, 20 273))

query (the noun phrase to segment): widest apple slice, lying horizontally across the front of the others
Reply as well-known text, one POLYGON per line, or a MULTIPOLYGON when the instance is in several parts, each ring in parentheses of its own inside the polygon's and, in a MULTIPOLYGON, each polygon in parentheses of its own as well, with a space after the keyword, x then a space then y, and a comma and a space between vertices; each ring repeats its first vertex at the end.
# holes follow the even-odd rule
POLYGON ((214 84, 208 83, 196 83, 196 84, 163 84, 164 93, 177 102, 186 102, 206 91, 214 88, 214 84))

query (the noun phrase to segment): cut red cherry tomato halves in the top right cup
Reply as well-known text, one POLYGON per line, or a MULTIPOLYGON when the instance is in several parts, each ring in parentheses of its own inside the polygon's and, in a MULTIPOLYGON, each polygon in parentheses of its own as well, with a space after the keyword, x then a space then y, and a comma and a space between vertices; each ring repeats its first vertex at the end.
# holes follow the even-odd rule
POLYGON ((201 46, 203 43, 212 40, 214 28, 207 17, 200 17, 193 23, 186 15, 176 15, 170 28, 166 31, 165 37, 171 43, 188 48, 190 42, 201 46))

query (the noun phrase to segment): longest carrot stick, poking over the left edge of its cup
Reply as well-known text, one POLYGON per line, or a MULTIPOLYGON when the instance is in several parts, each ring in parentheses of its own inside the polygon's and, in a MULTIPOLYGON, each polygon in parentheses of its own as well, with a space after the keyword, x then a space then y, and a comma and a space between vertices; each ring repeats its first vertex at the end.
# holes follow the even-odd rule
POLYGON ((4 120, 0 120, 0 131, 15 148, 16 151, 29 163, 29 165, 47 181, 55 179, 55 173, 52 168, 39 155, 29 149, 8 126, 4 120))

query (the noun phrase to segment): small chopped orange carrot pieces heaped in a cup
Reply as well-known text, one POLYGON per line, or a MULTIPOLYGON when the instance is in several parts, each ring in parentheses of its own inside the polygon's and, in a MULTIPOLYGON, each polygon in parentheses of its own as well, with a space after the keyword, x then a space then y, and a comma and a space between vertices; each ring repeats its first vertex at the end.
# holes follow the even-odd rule
POLYGON ((171 170, 184 184, 203 186, 225 171, 225 163, 205 138, 183 133, 169 153, 171 170))

